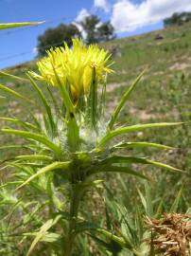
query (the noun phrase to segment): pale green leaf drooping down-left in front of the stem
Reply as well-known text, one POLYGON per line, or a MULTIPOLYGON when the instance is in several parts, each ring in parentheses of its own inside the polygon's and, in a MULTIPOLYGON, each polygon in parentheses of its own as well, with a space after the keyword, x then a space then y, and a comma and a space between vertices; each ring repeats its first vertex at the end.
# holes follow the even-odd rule
POLYGON ((55 170, 68 170, 70 161, 68 162, 54 162, 51 163, 45 167, 43 167, 42 169, 40 169, 36 174, 31 175, 28 179, 26 179, 26 181, 17 188, 17 190, 21 189, 22 187, 26 186, 26 184, 28 184, 30 181, 32 181, 33 179, 37 178, 38 176, 42 175, 42 174, 46 174, 48 172, 52 172, 55 170))

